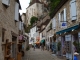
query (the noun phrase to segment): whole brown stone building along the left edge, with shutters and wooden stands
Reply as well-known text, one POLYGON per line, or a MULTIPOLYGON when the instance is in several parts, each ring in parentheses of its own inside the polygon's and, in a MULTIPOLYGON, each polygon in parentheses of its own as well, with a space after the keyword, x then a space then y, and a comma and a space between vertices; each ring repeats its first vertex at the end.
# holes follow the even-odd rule
POLYGON ((0 0, 0 60, 17 59, 19 0, 0 0))

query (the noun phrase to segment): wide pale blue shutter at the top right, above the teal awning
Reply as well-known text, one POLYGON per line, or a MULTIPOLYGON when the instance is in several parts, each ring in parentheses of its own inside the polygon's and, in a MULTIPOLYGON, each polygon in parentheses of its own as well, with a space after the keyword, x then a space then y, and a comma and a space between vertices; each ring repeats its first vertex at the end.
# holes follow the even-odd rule
POLYGON ((70 12, 71 12, 71 20, 77 19, 77 12, 76 12, 76 0, 71 0, 70 2, 70 12))

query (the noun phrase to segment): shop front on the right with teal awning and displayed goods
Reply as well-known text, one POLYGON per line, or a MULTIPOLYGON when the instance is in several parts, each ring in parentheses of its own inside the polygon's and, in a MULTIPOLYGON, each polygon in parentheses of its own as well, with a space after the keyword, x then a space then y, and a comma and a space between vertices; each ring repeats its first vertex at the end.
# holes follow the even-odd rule
POLYGON ((68 60, 73 60, 75 51, 79 53, 79 25, 58 31, 56 34, 57 42, 61 45, 57 46, 61 48, 59 49, 60 55, 65 56, 68 60))

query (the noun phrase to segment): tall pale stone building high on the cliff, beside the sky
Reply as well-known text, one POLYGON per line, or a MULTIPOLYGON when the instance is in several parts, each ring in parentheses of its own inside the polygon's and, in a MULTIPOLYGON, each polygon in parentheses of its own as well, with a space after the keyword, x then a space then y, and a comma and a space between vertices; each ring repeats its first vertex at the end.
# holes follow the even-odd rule
POLYGON ((43 4, 39 0, 32 0, 28 8, 26 8, 26 20, 30 25, 30 18, 32 16, 40 17, 43 15, 43 4))

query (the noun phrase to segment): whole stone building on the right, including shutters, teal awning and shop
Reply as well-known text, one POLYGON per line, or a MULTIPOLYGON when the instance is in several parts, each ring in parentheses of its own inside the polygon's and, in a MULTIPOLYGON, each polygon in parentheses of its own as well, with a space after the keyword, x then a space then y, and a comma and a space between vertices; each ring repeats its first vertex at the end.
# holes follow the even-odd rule
POLYGON ((79 0, 61 0, 52 14, 53 36, 61 43, 59 54, 69 60, 74 58, 74 46, 79 53, 79 46, 74 44, 74 42, 79 44, 80 41, 79 3, 79 0))

